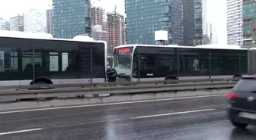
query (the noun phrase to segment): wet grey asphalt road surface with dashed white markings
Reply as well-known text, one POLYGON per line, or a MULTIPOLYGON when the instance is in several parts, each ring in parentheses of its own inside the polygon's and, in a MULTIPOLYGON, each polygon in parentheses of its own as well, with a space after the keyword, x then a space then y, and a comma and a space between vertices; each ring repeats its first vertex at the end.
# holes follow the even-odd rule
POLYGON ((225 107, 226 96, 218 96, 0 113, 0 139, 255 139, 256 127, 234 129, 225 107))

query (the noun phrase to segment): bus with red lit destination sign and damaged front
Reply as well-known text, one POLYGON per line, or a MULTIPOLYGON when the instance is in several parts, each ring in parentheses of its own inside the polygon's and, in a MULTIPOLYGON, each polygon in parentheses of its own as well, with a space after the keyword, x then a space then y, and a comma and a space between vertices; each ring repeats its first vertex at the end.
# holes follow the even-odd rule
POLYGON ((125 81, 239 79, 247 75, 248 49, 236 45, 122 45, 114 69, 125 81))

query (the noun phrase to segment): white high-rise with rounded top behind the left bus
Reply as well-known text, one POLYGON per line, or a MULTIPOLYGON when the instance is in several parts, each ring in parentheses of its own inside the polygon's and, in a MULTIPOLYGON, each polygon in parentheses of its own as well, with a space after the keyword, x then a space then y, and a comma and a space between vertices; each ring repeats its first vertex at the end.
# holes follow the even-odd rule
POLYGON ((31 8, 24 12, 24 31, 46 33, 46 11, 31 8))

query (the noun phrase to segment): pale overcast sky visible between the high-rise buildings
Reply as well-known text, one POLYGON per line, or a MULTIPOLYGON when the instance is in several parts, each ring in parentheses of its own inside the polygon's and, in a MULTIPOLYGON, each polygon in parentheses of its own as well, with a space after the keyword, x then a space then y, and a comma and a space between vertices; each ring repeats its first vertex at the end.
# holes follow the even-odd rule
MULTIPOLYGON (((91 4, 104 7, 107 12, 114 11, 117 5, 117 12, 124 14, 124 0, 91 0, 91 4)), ((0 17, 9 18, 29 8, 47 9, 51 5, 52 0, 0 0, 0 17)), ((226 0, 207 0, 207 18, 208 23, 216 26, 219 44, 226 44, 226 0)))

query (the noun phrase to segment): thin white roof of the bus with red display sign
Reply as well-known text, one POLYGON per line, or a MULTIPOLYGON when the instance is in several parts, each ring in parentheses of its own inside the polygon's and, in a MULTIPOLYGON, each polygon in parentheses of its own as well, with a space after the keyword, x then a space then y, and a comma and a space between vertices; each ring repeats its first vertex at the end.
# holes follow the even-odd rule
POLYGON ((115 48, 123 47, 167 47, 167 48, 210 48, 210 49, 232 49, 232 50, 248 50, 248 48, 240 48, 238 45, 197 45, 197 46, 175 46, 175 45, 120 45, 115 48))

